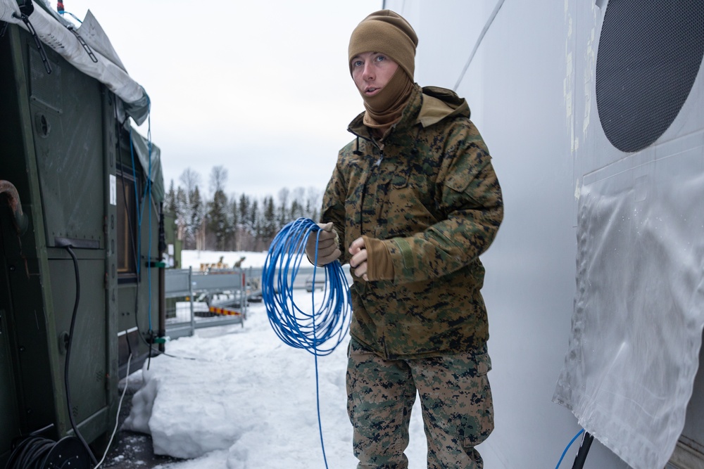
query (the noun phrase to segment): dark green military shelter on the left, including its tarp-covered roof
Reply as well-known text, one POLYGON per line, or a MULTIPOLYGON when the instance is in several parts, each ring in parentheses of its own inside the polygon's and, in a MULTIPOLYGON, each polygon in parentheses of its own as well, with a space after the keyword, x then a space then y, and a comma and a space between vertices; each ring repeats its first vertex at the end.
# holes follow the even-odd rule
POLYGON ((149 96, 92 15, 0 0, 0 20, 0 467, 94 467, 128 361, 163 349, 149 96))

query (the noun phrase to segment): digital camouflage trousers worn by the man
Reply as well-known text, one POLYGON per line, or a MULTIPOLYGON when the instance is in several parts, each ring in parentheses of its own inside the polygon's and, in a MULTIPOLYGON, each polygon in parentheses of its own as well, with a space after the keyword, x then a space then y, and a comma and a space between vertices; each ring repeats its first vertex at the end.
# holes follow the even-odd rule
POLYGON ((453 354, 386 360, 352 339, 348 349, 347 412, 357 469, 406 469, 408 425, 420 395, 429 469, 482 469, 474 449, 494 430, 486 373, 489 355, 453 354))

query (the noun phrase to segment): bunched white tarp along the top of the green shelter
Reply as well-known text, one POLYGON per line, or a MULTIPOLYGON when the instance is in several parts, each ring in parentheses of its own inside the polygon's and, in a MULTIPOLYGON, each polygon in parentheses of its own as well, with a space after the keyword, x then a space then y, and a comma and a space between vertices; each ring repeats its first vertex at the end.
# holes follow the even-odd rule
MULTIPOLYGON (((25 30, 27 27, 19 18, 20 8, 15 0, 0 0, 0 20, 6 23, 14 23, 20 25, 25 30), (17 15, 17 18, 13 16, 17 15)), ((82 44, 75 37, 73 32, 54 18, 50 13, 44 11, 42 6, 34 5, 34 11, 29 16, 30 23, 37 32, 39 40, 45 46, 51 47, 65 60, 71 63, 81 72, 94 77, 99 82, 105 84, 108 89, 113 91, 122 101, 125 102, 125 110, 137 122, 137 125, 142 124, 146 119, 147 110, 149 108, 149 97, 146 92, 135 82, 130 75, 125 72, 124 65, 117 58, 117 54, 107 38, 98 39, 102 32, 102 28, 97 24, 92 14, 87 15, 89 19, 88 27, 85 28, 89 34, 83 37, 84 28, 80 28, 80 34, 87 44, 94 44, 93 53, 98 59, 94 63, 92 58, 83 48, 82 44), (106 55, 111 56, 113 60, 108 59, 106 55)))

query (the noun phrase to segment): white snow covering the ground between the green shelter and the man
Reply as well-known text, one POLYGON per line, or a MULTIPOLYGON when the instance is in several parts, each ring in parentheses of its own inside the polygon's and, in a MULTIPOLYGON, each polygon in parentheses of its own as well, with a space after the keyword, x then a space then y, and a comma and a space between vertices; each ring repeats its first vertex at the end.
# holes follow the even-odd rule
MULTIPOLYGON (((222 255, 184 253, 184 266, 218 262, 222 255)), ((266 253, 244 255, 251 266, 260 266, 256 255, 262 255, 263 264, 266 253)), ((225 253, 223 261, 232 265, 238 256, 225 253)), ((320 290, 316 297, 322 300, 320 290)), ((294 301, 312 307, 305 290, 295 290, 294 301)), ((329 468, 353 468, 357 459, 346 413, 347 342, 318 357, 325 458, 315 356, 279 340, 263 303, 250 304, 244 327, 197 329, 192 337, 168 342, 170 356, 157 356, 133 373, 129 385, 141 387, 122 428, 151 434, 155 454, 188 458, 161 469, 325 468, 325 459, 329 468)), ((426 467, 418 403, 406 454, 410 469, 426 467)))

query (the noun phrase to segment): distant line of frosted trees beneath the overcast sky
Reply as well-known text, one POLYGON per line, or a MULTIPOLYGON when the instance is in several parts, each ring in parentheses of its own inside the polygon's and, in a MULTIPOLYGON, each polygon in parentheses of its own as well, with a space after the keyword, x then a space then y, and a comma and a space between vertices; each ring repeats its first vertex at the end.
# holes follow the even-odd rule
POLYGON ((164 210, 176 221, 176 236, 184 249, 216 251, 264 251, 289 221, 299 217, 318 220, 321 191, 282 188, 272 195, 253 198, 225 194, 227 169, 210 171, 210 198, 201 191, 201 176, 184 169, 180 184, 172 180, 165 194, 164 210))

